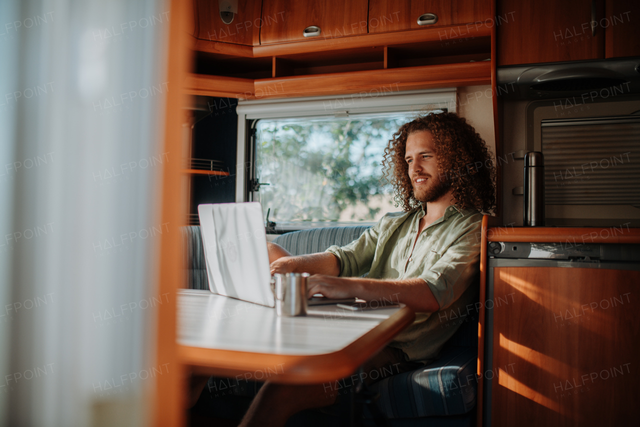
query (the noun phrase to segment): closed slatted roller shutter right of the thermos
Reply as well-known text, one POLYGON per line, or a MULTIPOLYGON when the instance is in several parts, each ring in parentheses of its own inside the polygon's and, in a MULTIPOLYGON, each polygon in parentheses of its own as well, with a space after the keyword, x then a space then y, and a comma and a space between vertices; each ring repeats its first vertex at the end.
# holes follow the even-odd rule
POLYGON ((640 207, 640 115, 542 122, 547 205, 640 207))

